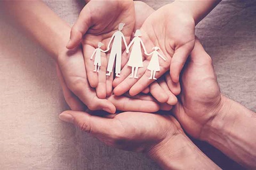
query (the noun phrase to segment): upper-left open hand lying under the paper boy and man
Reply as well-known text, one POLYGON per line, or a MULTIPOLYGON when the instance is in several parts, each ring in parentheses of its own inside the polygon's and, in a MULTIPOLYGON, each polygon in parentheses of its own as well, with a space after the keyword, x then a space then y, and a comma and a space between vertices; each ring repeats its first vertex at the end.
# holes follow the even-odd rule
MULTIPOLYGON (((76 47, 82 40, 87 78, 91 87, 96 88, 99 98, 111 95, 112 77, 106 78, 108 55, 101 53, 101 66, 99 73, 93 72, 94 62, 90 60, 98 43, 104 45, 106 50, 109 40, 118 30, 119 23, 125 23, 122 30, 127 42, 130 41, 135 24, 134 4, 129 1, 97 1, 91 0, 85 5, 79 18, 71 29, 70 40, 67 48, 76 47)), ((124 47, 124 46, 123 46, 124 47)))

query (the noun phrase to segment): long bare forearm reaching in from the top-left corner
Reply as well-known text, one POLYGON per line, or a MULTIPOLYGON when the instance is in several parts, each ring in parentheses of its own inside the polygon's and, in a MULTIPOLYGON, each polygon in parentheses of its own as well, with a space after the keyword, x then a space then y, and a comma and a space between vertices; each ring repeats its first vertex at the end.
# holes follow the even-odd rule
POLYGON ((3 8, 18 26, 53 57, 66 46, 70 27, 41 1, 2 1, 3 8))

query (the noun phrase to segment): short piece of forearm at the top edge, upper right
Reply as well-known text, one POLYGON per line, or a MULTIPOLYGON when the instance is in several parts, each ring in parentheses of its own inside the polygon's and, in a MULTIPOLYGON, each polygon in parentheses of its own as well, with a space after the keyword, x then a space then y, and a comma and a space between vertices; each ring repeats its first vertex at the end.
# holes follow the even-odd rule
POLYGON ((197 24, 220 2, 221 0, 176 0, 174 4, 186 7, 197 24))

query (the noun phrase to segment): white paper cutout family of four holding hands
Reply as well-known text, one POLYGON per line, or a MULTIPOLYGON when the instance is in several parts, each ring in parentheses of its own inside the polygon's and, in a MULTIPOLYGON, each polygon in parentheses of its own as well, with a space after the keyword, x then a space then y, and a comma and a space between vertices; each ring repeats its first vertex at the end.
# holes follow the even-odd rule
POLYGON ((96 48, 94 50, 94 52, 92 53, 92 56, 91 56, 91 60, 92 60, 93 56, 95 55, 95 59, 94 59, 95 69, 93 71, 94 72, 99 72, 99 69, 100 69, 100 66, 101 66, 101 52, 103 52, 103 53, 108 52, 109 49, 110 49, 110 44, 113 41, 112 48, 111 48, 111 51, 110 51, 109 61, 108 61, 108 67, 107 67, 108 73, 106 75, 110 76, 111 72, 113 71, 114 62, 116 60, 116 66, 115 66, 116 77, 120 77, 121 60, 122 60, 122 40, 123 40, 125 48, 126 48, 126 53, 129 53, 129 49, 133 45, 132 50, 131 50, 131 54, 130 54, 130 57, 129 57, 129 61, 127 63, 128 66, 132 67, 132 73, 130 75, 130 78, 138 79, 138 77, 137 77, 138 69, 139 69, 139 67, 143 67, 142 52, 141 52, 141 46, 142 46, 145 55, 147 55, 147 56, 152 55, 151 60, 150 60, 150 62, 148 64, 148 67, 147 67, 147 69, 151 71, 149 79, 156 80, 156 78, 155 78, 156 72, 160 71, 158 56, 161 57, 164 61, 166 61, 165 57, 163 57, 161 54, 159 54, 157 52, 157 50, 160 49, 160 48, 159 47, 154 47, 153 52, 148 54, 147 50, 145 48, 145 45, 144 45, 143 41, 140 38, 141 37, 140 30, 137 30, 135 32, 134 38, 132 39, 129 46, 127 46, 125 37, 124 37, 123 33, 121 32, 123 28, 124 28, 124 23, 120 23, 119 27, 118 27, 119 30, 116 31, 113 34, 113 36, 111 37, 111 39, 108 43, 107 50, 102 50, 101 49, 101 47, 104 45, 103 43, 100 42, 98 44, 98 48, 96 48), (97 69, 97 66, 98 66, 98 69, 97 69))

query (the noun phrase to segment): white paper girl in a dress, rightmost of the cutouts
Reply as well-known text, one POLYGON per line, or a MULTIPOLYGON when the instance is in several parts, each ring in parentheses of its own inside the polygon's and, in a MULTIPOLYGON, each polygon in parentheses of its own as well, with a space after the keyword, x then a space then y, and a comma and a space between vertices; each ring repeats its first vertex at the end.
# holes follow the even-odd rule
POLYGON ((148 64, 148 70, 151 71, 150 78, 148 78, 148 79, 156 80, 156 78, 155 78, 156 72, 160 71, 158 56, 161 57, 164 61, 166 61, 166 59, 161 54, 159 54, 157 52, 157 50, 160 49, 159 47, 154 47, 153 49, 154 49, 154 51, 152 53, 147 54, 148 56, 153 54, 151 57, 151 60, 148 64))

